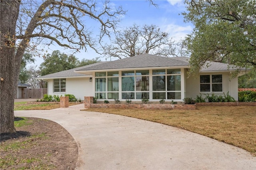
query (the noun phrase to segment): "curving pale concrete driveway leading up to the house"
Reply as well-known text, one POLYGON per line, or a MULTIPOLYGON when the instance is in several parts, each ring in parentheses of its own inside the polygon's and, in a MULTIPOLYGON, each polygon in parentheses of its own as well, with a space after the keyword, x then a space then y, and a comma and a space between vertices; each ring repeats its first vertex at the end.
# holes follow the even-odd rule
POLYGON ((83 104, 15 116, 50 119, 78 144, 78 170, 256 170, 256 157, 193 132, 140 119, 80 111, 83 104))

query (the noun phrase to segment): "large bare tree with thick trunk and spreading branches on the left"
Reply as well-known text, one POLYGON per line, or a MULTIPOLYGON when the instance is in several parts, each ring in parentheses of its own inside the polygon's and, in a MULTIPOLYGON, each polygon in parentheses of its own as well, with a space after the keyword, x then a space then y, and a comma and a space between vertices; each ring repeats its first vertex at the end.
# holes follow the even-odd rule
POLYGON ((59 45, 74 50, 96 49, 96 42, 115 32, 122 7, 108 1, 0 0, 0 132, 15 132, 14 91, 25 49, 59 45), (91 28, 92 23, 98 24, 91 28), (47 40, 47 41, 45 41, 47 40))

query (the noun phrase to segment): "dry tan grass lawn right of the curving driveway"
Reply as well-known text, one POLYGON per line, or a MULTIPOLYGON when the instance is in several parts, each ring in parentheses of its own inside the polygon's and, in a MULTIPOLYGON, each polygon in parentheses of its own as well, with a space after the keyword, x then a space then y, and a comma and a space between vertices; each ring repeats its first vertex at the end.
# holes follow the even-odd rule
POLYGON ((142 110, 91 108, 183 128, 248 150, 256 156, 256 107, 209 107, 197 110, 142 110))

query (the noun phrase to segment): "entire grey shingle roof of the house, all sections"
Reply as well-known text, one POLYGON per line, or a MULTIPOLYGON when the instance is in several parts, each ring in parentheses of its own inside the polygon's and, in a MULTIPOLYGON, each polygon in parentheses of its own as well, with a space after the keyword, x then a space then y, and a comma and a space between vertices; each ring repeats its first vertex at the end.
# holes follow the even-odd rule
MULTIPOLYGON (((124 59, 119 59, 115 61, 104 61, 98 62, 90 65, 85 65, 82 67, 77 67, 74 69, 69 69, 65 71, 60 71, 58 73, 52 73, 38 77, 38 79, 43 78, 55 78, 55 77, 80 77, 80 76, 91 76, 83 73, 78 73, 74 71, 92 71, 92 70, 107 70, 107 69, 127 69, 127 68, 143 68, 143 67, 170 67, 170 66, 180 66, 189 68, 188 57, 160 57, 151 54, 141 54, 134 57, 128 57, 124 59)), ((224 63, 217 63, 207 61, 210 65, 209 67, 204 67, 200 71, 228 71, 236 70, 235 65, 228 65, 224 63)), ((244 69, 244 68, 243 68, 244 69)))

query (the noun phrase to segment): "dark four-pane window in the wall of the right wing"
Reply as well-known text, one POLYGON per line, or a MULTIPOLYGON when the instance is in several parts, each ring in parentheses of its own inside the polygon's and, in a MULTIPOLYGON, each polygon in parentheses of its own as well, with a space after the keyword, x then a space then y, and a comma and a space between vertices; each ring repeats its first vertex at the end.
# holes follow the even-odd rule
POLYGON ((222 75, 200 75, 200 92, 222 92, 222 75))

